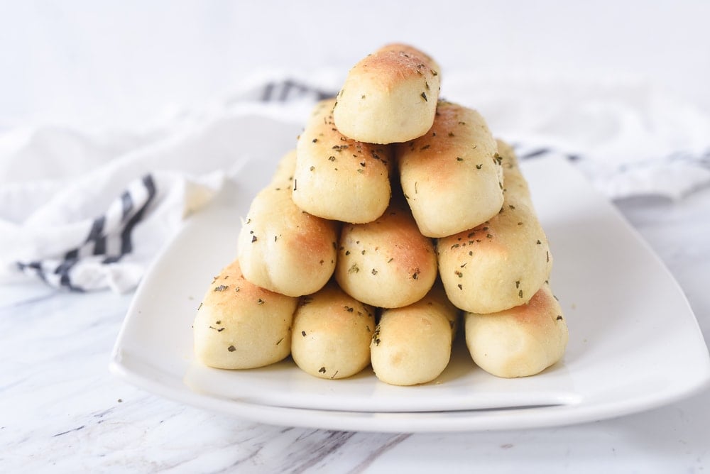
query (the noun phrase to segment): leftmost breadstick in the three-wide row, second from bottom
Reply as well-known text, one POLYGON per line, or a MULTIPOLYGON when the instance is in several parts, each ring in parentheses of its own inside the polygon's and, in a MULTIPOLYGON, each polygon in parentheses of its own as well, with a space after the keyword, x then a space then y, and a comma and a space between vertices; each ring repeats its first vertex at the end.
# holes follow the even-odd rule
POLYGON ((241 269, 254 285, 288 296, 315 293, 335 269, 339 224, 302 211, 291 199, 295 152, 254 197, 238 238, 241 269))

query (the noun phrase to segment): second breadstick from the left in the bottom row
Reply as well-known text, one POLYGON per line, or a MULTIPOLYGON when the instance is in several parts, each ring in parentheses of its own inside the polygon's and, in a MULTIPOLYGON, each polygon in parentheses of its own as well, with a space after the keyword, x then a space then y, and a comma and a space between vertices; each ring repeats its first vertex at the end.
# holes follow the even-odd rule
POLYGON ((349 377, 370 363, 374 329, 374 309, 331 282, 302 297, 293 318, 291 355, 298 367, 315 377, 349 377))

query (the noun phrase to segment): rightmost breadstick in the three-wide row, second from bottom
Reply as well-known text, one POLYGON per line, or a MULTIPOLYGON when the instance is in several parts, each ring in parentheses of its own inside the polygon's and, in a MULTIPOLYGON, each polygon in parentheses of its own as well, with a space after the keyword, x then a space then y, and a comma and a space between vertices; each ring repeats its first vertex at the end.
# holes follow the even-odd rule
POLYGON ((505 170, 505 202, 484 224, 439 238, 437 258, 452 303, 474 313, 495 313, 528 302, 552 268, 545 232, 537 220, 513 150, 498 143, 505 170))

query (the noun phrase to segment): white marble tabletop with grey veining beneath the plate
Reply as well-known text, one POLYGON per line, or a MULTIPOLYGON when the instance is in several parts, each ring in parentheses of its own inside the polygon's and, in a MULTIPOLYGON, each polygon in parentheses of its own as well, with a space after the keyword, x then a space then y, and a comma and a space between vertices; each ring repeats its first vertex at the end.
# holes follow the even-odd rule
MULTIPOLYGON (((618 202, 710 340, 710 189, 618 202)), ((131 294, 0 287, 0 472, 703 472, 710 390, 550 429, 372 434, 268 426, 185 407, 109 374, 131 294)), ((672 317, 672 315, 669 315, 672 317)))

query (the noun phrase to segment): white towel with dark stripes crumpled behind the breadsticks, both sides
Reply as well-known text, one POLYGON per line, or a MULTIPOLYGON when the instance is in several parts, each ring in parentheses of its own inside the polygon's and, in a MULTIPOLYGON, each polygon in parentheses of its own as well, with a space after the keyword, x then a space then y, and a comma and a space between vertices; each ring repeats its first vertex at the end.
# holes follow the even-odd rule
MULTIPOLYGON (((342 80, 285 77, 258 77, 144 130, 0 131, 0 281, 133 290, 182 219, 258 158, 241 150, 235 131, 249 136, 279 121, 291 131, 342 80)), ((442 97, 479 109, 523 160, 572 160, 611 199, 679 199, 710 182, 710 118, 633 82, 464 75, 444 82, 442 97)), ((274 153, 263 144, 263 157, 274 153)))

